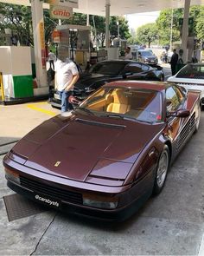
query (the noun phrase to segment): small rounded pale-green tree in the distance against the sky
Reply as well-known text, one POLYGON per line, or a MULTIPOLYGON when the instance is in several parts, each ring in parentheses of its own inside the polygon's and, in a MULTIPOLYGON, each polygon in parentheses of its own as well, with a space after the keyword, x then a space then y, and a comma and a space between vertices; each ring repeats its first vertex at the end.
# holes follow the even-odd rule
POLYGON ((156 40, 157 33, 156 23, 148 23, 137 29, 137 38, 141 43, 148 43, 148 47, 150 48, 150 43, 156 40))

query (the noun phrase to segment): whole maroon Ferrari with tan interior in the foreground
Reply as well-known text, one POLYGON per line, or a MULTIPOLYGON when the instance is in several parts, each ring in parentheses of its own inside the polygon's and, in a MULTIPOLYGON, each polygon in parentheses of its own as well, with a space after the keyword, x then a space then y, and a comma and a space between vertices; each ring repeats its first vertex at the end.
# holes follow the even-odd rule
POLYGON ((199 127, 199 96, 165 82, 110 82, 10 150, 8 187, 63 211, 124 220, 162 191, 199 127))

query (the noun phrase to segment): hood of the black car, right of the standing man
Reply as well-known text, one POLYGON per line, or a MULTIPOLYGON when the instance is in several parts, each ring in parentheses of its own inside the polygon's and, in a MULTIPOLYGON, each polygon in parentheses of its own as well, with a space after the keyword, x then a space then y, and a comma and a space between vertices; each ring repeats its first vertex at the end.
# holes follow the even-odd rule
POLYGON ((74 89, 84 90, 86 87, 89 87, 94 82, 105 81, 105 79, 109 79, 110 77, 112 77, 112 76, 111 75, 102 75, 102 74, 84 73, 84 74, 80 75, 80 79, 75 84, 74 89))

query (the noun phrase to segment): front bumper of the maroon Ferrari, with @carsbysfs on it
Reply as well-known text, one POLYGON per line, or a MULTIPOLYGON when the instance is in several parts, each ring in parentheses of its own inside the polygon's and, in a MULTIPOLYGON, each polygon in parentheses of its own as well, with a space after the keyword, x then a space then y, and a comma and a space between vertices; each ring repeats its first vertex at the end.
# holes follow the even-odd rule
POLYGON ((7 155, 3 158, 3 165, 6 168, 8 187, 16 193, 63 212, 98 220, 127 219, 150 197, 154 184, 152 171, 134 185, 110 187, 46 174, 12 161, 7 155), (13 179, 15 176, 18 177, 17 180, 13 179), (107 201, 117 199, 118 206, 108 209, 86 206, 83 199, 87 195, 103 197, 107 201))

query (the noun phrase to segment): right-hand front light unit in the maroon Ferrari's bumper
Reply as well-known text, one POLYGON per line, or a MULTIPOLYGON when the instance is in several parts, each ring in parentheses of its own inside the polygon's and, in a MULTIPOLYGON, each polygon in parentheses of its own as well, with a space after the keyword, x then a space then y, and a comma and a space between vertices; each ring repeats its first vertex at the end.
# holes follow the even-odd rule
POLYGON ((118 198, 102 197, 84 194, 83 205, 87 207, 96 207, 103 209, 115 209, 118 206, 118 198))

